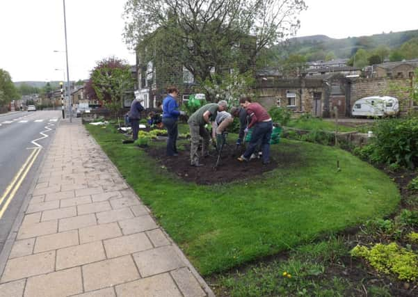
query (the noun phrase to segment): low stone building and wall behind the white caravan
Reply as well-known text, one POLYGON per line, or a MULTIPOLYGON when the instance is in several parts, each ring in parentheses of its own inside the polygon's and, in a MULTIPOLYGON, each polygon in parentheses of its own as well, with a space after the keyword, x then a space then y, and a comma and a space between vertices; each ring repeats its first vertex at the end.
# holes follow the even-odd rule
POLYGON ((294 113, 310 113, 323 118, 332 116, 337 108, 339 117, 350 117, 354 102, 369 96, 398 98, 401 113, 418 109, 417 103, 409 99, 411 83, 410 78, 365 79, 344 74, 295 79, 262 77, 257 79, 257 93, 260 103, 267 108, 281 106, 294 113))

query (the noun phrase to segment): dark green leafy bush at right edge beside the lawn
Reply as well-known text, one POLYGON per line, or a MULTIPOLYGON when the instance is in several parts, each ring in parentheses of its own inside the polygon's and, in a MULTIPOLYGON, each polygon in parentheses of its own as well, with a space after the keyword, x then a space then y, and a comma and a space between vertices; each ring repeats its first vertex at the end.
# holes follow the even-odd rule
POLYGON ((374 132, 371 160, 407 168, 418 165, 418 118, 380 120, 374 132))

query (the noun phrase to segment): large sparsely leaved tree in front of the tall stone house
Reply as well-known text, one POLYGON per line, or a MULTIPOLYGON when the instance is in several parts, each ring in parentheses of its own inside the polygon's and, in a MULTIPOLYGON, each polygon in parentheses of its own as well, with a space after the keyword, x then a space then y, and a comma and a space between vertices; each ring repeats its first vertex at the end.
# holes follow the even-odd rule
POLYGON ((262 49, 296 32, 305 9, 303 0, 128 0, 124 38, 141 61, 213 81, 213 67, 248 71, 262 49))

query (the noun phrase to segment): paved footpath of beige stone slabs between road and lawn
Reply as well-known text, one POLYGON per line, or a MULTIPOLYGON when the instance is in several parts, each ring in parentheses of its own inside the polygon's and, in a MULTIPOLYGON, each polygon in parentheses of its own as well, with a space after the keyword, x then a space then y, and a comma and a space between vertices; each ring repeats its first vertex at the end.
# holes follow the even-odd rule
POLYGON ((58 124, 0 273, 0 297, 214 296, 77 118, 58 124))

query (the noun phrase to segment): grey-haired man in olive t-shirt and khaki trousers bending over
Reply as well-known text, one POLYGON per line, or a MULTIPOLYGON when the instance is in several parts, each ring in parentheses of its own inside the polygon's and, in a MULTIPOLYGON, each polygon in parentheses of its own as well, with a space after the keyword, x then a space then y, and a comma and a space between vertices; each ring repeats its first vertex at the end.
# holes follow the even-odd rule
POLYGON ((209 156, 209 132, 204 127, 216 120, 218 111, 225 111, 227 109, 227 102, 220 100, 220 102, 206 104, 197 111, 195 111, 190 118, 188 118, 188 126, 190 127, 191 148, 190 148, 190 165, 195 167, 203 166, 199 162, 198 148, 200 137, 202 140, 202 156, 209 156))

